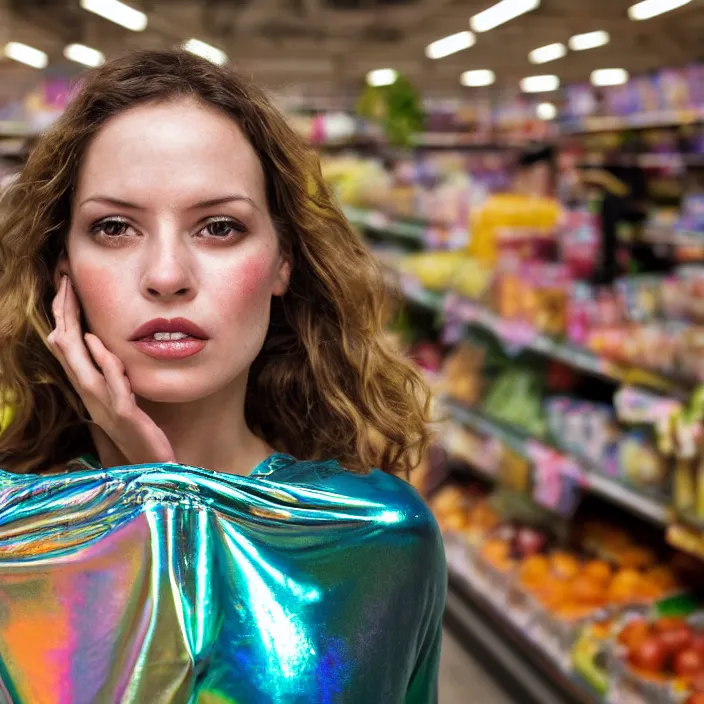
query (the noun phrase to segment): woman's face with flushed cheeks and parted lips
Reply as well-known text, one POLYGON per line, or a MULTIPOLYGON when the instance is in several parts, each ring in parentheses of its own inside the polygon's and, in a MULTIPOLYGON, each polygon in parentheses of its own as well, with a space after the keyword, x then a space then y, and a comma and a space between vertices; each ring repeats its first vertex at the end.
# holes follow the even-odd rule
POLYGON ((243 383, 289 276, 254 150, 232 120, 189 99, 133 108, 98 132, 67 252, 60 268, 89 330, 150 401, 243 383), (206 340, 134 340, 155 318, 185 318, 206 340))

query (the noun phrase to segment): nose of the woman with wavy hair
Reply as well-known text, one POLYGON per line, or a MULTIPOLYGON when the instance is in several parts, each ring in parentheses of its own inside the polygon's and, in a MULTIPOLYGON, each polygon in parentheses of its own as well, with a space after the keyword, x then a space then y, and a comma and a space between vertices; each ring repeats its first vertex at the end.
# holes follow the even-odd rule
POLYGON ((191 253, 177 237, 163 237, 147 248, 143 293, 160 300, 192 298, 196 293, 196 279, 191 253))

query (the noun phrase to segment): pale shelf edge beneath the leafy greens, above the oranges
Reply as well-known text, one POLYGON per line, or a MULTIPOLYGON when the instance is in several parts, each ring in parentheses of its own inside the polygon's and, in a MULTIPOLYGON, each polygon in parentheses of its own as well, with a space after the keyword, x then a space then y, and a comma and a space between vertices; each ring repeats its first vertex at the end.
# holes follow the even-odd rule
POLYGON ((591 465, 581 457, 575 457, 562 448, 546 443, 543 440, 533 438, 518 428, 508 426, 500 421, 489 418, 476 409, 469 409, 453 402, 451 399, 442 399, 443 406, 448 413, 462 425, 474 430, 498 438, 516 453, 532 459, 529 443, 535 447, 537 443, 546 451, 558 452, 565 458, 571 460, 580 470, 583 488, 593 494, 608 499, 612 503, 635 513, 642 518, 656 525, 666 525, 668 521, 668 508, 665 504, 654 498, 645 496, 630 487, 621 484, 614 479, 600 474, 598 468, 591 465))

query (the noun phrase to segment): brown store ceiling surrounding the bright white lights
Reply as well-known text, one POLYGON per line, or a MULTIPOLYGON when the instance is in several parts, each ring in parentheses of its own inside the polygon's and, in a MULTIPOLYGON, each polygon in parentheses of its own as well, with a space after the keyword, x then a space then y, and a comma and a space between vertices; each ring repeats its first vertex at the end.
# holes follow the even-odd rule
MULTIPOLYGON (((704 58, 704 0, 643 22, 628 19, 635 0, 542 0, 540 7, 490 32, 470 49, 431 61, 430 42, 468 29, 492 0, 128 0, 148 14, 131 32, 79 6, 79 0, 0 0, 0 44, 21 41, 46 51, 53 66, 63 47, 82 42, 108 58, 136 47, 169 47, 190 37, 223 49, 233 63, 282 96, 351 97, 366 72, 393 67, 428 97, 479 94, 459 84, 462 71, 490 68, 498 85, 536 73, 563 83, 595 68, 631 73, 704 58), (576 33, 607 30, 611 43, 533 66, 528 52, 576 33)), ((0 95, 31 81, 33 69, 0 60, 0 95)))

